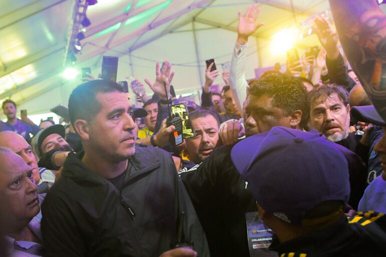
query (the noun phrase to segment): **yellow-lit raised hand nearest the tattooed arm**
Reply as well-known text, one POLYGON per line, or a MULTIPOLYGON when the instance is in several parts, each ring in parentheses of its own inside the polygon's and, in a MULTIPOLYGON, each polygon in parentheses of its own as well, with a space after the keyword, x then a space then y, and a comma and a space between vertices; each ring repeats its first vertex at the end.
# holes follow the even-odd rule
POLYGON ((327 56, 330 59, 336 59, 339 55, 338 50, 338 35, 332 28, 331 24, 324 18, 317 17, 314 20, 316 27, 314 28, 316 36, 322 47, 327 51, 327 56))

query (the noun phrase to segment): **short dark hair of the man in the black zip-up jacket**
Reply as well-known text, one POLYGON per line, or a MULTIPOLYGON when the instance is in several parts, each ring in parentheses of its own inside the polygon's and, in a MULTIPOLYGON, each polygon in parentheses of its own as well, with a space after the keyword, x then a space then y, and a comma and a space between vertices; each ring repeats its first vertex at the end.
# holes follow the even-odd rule
POLYGON ((96 95, 110 92, 124 93, 121 85, 110 80, 92 80, 77 86, 68 100, 70 121, 74 128, 75 121, 78 119, 92 121, 102 107, 96 95))

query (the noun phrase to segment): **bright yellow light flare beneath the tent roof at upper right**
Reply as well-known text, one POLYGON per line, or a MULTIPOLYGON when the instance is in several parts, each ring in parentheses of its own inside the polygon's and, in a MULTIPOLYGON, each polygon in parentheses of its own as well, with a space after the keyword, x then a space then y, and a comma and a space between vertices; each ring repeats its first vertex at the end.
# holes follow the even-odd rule
POLYGON ((296 39, 299 37, 299 32, 294 28, 284 29, 279 31, 272 37, 271 52, 274 55, 285 54, 288 50, 294 47, 296 39))

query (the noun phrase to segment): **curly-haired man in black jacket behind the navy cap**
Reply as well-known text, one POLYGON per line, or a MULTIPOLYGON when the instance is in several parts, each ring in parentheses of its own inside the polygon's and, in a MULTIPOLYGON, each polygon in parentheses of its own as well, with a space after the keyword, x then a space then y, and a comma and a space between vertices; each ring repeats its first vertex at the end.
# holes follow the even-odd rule
MULTIPOLYGON (((249 86, 250 96, 245 103, 248 136, 278 125, 305 128, 309 106, 307 90, 301 81, 275 73, 251 81, 249 86)), ((200 165, 180 172, 207 235, 212 256, 250 255, 245 214, 257 209, 248 183, 231 159, 233 146, 220 147, 200 165)), ((346 157, 350 182, 355 184, 360 175, 366 173, 361 159, 340 145, 336 148, 346 157)))

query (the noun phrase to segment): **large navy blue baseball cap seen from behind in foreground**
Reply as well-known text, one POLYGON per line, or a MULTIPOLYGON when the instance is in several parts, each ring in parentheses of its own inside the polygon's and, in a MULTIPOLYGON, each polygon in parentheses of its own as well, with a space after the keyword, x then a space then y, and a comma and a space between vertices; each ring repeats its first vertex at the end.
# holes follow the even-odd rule
POLYGON ((348 202, 348 164, 334 145, 321 134, 274 127, 237 143, 231 157, 265 211, 301 224, 321 202, 348 202))

